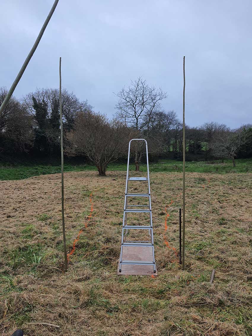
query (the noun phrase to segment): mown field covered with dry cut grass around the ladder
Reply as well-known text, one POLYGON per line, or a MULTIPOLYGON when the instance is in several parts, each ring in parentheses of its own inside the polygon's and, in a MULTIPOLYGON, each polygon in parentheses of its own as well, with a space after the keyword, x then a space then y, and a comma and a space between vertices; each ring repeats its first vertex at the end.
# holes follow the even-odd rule
POLYGON ((252 335, 252 174, 186 174, 182 271, 172 249, 178 250, 182 174, 153 167, 156 278, 116 274, 125 171, 65 174, 69 252, 84 227, 66 274, 60 175, 0 182, 1 335, 16 327, 30 336, 252 335))

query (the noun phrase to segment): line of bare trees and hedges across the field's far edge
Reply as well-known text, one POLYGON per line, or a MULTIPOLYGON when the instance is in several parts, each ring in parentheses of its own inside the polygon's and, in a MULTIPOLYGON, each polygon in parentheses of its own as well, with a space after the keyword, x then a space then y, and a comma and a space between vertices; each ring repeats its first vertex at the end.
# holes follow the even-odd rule
MULTIPOLYGON (((7 94, 0 88, 0 104, 7 94)), ((174 111, 165 111, 162 100, 167 93, 149 85, 142 77, 115 93, 113 119, 95 113, 87 100, 62 90, 62 117, 65 154, 83 156, 100 175, 110 162, 127 154, 131 138, 145 138, 151 158, 182 159, 182 123, 174 111)), ((186 126, 186 160, 233 160, 252 156, 252 125, 230 129, 225 124, 206 122, 186 126)), ((11 97, 0 117, 0 158, 57 158, 60 155, 59 90, 37 88, 22 99, 11 97)), ((135 169, 144 160, 144 148, 132 148, 135 169)))

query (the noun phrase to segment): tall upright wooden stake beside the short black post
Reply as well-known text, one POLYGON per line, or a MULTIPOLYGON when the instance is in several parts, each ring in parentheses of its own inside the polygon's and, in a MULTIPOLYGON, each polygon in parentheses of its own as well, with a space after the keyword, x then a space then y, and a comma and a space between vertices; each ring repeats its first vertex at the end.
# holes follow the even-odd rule
POLYGON ((185 92, 185 72, 184 72, 184 59, 183 58, 183 74, 184 74, 184 87, 183 87, 183 222, 182 222, 182 270, 184 270, 184 244, 185 244, 185 123, 184 123, 184 92, 185 92))

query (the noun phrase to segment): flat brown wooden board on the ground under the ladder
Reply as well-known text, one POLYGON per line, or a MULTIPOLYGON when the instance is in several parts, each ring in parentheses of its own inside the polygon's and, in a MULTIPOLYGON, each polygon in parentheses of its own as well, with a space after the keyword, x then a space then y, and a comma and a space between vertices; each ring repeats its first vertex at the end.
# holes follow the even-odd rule
MULTIPOLYGON (((122 253, 122 261, 124 260, 139 260, 139 261, 151 261, 152 260, 152 247, 148 246, 124 246, 122 253)), ((119 272, 119 263, 117 268, 118 275, 153 275, 157 276, 153 272, 152 265, 127 265, 122 264, 122 271, 119 272)))

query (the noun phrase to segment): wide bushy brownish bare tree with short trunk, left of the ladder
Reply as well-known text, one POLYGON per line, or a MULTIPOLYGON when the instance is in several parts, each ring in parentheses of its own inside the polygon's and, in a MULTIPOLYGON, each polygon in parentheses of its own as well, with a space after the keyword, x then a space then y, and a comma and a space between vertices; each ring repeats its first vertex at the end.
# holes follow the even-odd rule
POLYGON ((68 155, 86 155, 95 164, 99 175, 106 175, 109 163, 127 153, 132 130, 120 121, 101 114, 78 113, 74 128, 67 133, 68 155))

